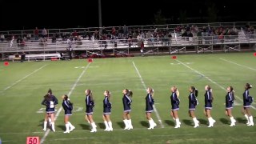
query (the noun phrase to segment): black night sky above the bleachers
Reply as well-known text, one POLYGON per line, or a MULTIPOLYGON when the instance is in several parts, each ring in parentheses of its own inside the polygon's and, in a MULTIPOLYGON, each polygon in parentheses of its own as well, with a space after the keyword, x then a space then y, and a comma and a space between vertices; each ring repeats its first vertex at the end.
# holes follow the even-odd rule
MULTIPOLYGON (((35 26, 39 29, 98 26, 98 0, 30 2, 1 0, 0 30, 33 30, 35 26)), ((168 23, 178 23, 180 10, 186 10, 187 17, 207 16, 209 2, 214 2, 218 18, 229 16, 229 19, 222 18, 222 22, 256 21, 255 0, 102 0, 102 26, 152 25, 158 10, 169 18, 168 23)))

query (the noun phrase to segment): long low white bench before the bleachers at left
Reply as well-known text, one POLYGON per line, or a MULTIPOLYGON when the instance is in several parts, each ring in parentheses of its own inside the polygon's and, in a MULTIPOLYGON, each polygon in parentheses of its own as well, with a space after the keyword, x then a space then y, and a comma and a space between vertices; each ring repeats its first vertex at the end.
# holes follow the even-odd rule
MULTIPOLYGON (((27 61, 31 60, 46 60, 46 59, 51 59, 51 60, 57 60, 61 58, 61 54, 26 54, 25 59, 27 61)), ((15 60, 21 60, 21 55, 9 55, 8 56, 9 60, 12 60, 13 62, 15 60)))

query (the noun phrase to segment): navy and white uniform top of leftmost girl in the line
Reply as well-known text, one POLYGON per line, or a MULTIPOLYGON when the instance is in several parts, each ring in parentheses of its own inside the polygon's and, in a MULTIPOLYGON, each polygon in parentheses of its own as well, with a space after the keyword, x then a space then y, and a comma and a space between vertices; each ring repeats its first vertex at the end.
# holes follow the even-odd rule
POLYGON ((55 105, 58 104, 58 99, 54 95, 50 95, 50 98, 45 98, 42 100, 42 105, 46 106, 46 113, 54 113, 55 112, 55 105))

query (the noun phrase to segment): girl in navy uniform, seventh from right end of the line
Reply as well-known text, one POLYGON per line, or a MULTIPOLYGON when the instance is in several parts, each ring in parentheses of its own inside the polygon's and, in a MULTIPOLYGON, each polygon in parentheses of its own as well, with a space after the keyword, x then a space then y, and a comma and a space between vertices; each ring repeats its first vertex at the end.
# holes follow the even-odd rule
POLYGON ((125 89, 122 90, 122 104, 123 104, 123 114, 122 114, 122 118, 123 118, 123 122, 125 123, 125 128, 124 130, 130 130, 133 129, 134 127, 132 126, 132 122, 130 119, 130 104, 132 102, 132 100, 130 99, 133 96, 133 92, 131 90, 125 89))

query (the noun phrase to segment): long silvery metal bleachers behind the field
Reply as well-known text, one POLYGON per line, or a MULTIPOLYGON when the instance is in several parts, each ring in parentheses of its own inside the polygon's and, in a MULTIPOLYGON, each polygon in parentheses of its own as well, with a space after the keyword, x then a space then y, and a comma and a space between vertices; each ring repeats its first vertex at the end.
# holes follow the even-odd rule
MULTIPOLYGON (((253 22, 253 24, 255 23, 256 22, 253 22)), ((204 24, 204 26, 207 25, 209 24, 204 24)), ((159 27, 162 27, 162 30, 166 31, 166 26, 159 27)), ((189 26, 189 24, 186 24, 186 26, 189 26)), ((222 26, 222 24, 220 23, 219 26, 222 26)), ((100 56, 104 54, 140 54, 141 42, 144 42, 144 54, 198 54, 256 50, 256 34, 247 34, 240 25, 236 26, 238 27, 238 34, 223 35, 222 38, 219 38, 218 35, 206 34, 205 32, 202 32, 202 35, 200 36, 193 34, 193 37, 184 37, 174 30, 175 26, 171 27, 172 28, 170 29, 168 28, 168 31, 170 31, 171 34, 171 38, 160 38, 157 36, 151 38, 132 38, 128 40, 127 38, 111 36, 111 38, 106 40, 97 40, 94 39, 94 35, 92 35, 90 40, 89 38, 81 38, 78 41, 73 40, 72 48, 75 52, 86 53, 86 57, 90 56, 91 54, 97 54, 100 56)), ((230 27, 234 27, 234 23, 231 23, 230 27)), ((133 29, 134 28, 132 26, 128 27, 128 30, 133 29)), ((70 31, 72 32, 74 30, 70 31)), ((142 26, 141 30, 145 31, 146 33, 146 31, 150 30, 150 28, 146 29, 145 26, 143 29, 142 26)), ((50 30, 48 30, 48 32, 50 32, 50 30)), ((1 33, 8 34, 9 32, 0 31, 0 34, 1 33)), ((32 33, 31 30, 30 33, 32 33)), ((16 34, 18 33, 16 32, 16 34)), ((32 60, 33 58, 38 57, 42 57, 43 60, 48 58, 60 58, 59 54, 66 52, 68 43, 62 38, 57 38, 56 41, 52 42, 52 34, 54 33, 48 34, 45 42, 40 42, 38 40, 34 40, 33 38, 26 40, 26 42, 23 44, 18 44, 15 39, 13 41, 3 40, 0 42, 2 60, 14 59, 14 54, 19 54, 22 52, 26 53, 27 60, 32 60), (31 58, 29 58, 29 56, 31 56, 31 58)))

